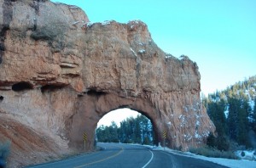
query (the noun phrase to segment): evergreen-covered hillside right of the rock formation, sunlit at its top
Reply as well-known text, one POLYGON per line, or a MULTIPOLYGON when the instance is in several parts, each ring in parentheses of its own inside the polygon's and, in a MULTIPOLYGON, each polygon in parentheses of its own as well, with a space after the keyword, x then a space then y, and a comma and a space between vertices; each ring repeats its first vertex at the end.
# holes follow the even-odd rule
POLYGON ((209 94, 203 102, 218 134, 209 139, 210 146, 220 150, 254 147, 248 132, 256 132, 256 76, 209 94))

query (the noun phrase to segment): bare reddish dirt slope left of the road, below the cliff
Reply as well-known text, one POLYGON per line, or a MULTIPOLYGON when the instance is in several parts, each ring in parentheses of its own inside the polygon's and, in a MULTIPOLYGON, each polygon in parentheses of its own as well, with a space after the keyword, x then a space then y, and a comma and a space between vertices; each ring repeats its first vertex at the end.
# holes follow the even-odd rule
POLYGON ((7 141, 11 143, 7 167, 11 168, 59 160, 67 154, 53 139, 1 116, 0 142, 7 141))

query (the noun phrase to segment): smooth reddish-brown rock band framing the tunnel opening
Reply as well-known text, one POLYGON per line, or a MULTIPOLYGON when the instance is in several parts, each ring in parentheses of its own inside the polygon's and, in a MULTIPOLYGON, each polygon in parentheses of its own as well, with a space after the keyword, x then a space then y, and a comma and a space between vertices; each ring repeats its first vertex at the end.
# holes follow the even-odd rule
MULTIPOLYGON (((99 120, 104 115, 113 111, 114 109, 132 109, 138 113, 145 115, 152 124, 152 131, 154 132, 151 137, 150 143, 158 145, 162 142, 161 131, 165 130, 161 122, 161 115, 158 109, 150 101, 142 98, 125 98, 115 93, 106 92, 100 95, 95 93, 84 94, 78 98, 75 105, 76 113, 71 115, 66 120, 67 138, 70 140, 68 145, 71 148, 81 149, 84 148, 84 136, 86 150, 94 150, 96 145, 96 128, 99 120)), ((119 118, 118 115, 114 118, 119 118)), ((129 139, 125 138, 121 142, 128 142, 129 139)), ((144 139, 143 139, 144 141, 144 139)), ((142 138, 137 140, 142 143, 142 138)))

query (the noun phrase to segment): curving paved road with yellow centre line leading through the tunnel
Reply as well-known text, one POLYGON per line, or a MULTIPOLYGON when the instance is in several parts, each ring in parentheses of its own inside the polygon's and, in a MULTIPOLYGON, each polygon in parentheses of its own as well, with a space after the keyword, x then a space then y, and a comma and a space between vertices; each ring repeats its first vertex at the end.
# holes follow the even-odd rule
POLYGON ((120 143, 98 143, 101 151, 82 154, 67 160, 50 162, 30 168, 224 168, 209 161, 170 154, 165 151, 152 151, 147 147, 120 143))

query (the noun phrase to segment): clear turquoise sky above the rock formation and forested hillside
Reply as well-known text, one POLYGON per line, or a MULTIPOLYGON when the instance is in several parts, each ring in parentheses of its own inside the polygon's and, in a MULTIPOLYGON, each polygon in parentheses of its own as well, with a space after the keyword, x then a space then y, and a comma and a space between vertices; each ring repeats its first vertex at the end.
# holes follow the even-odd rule
POLYGON ((143 20, 154 42, 188 55, 205 94, 256 75, 256 0, 52 0, 83 8, 91 22, 143 20))

